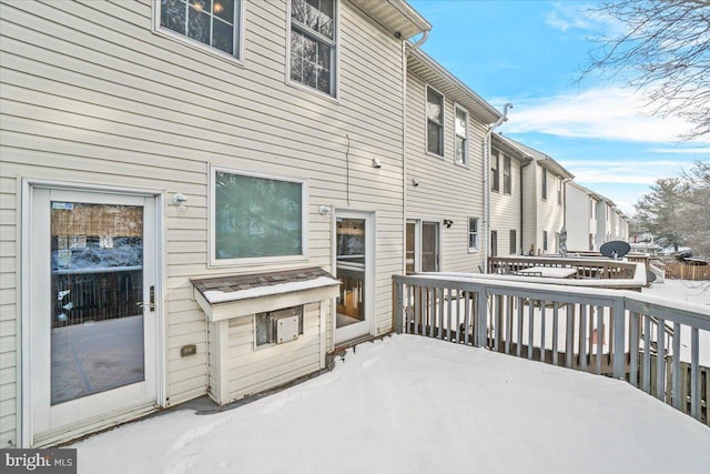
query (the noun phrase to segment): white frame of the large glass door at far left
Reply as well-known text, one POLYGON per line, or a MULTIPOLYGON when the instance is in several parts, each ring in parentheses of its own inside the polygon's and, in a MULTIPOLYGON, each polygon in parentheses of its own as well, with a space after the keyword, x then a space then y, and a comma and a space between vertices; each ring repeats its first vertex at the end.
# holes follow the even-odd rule
MULTIPOLYGON (((154 252, 154 283, 155 283, 155 311, 151 312, 150 317, 154 320, 154 326, 152 327, 155 337, 155 356, 154 356, 154 366, 150 367, 150 370, 155 374, 154 376, 154 390, 152 392, 155 393, 155 400, 153 403, 154 409, 155 405, 166 406, 166 356, 165 356, 165 323, 164 323, 164 288, 165 288, 165 271, 164 271, 164 193, 162 191, 155 190, 144 190, 144 189, 128 189, 128 188, 109 188, 109 186, 97 186, 97 185, 87 185, 87 184, 77 184, 77 183, 67 183, 67 182, 58 182, 58 181, 49 181, 49 180, 31 180, 23 179, 22 180, 22 195, 21 195, 21 222, 20 222, 20 242, 21 242, 21 284, 20 284, 20 304, 21 304, 21 330, 19 331, 20 337, 20 360, 19 360, 19 370, 21 373, 21 380, 19 384, 19 404, 20 404, 20 416, 19 416, 19 431, 21 440, 20 446, 22 447, 31 447, 33 444, 34 435, 37 434, 37 430, 33 422, 34 413, 32 412, 32 401, 33 401, 33 364, 37 363, 34 356, 37 350, 33 350, 33 330, 32 330, 32 294, 30 292, 31 283, 32 283, 32 263, 36 259, 32 255, 32 244, 31 239, 34 235, 32 232, 32 222, 36 218, 34 214, 34 191, 36 190, 53 190, 53 191, 69 191, 77 193, 95 193, 97 196, 102 196, 101 200, 105 200, 105 194, 111 194, 112 196, 119 198, 123 196, 133 196, 133 198, 149 198, 153 200, 153 209, 148 210, 153 219, 154 228, 151 230, 154 234, 155 242, 155 252, 154 252)), ((101 201, 100 200, 100 201, 101 201)), ((146 367, 148 370, 148 367, 146 367)), ((48 381, 49 383, 49 381, 48 381)), ((152 393, 151 392, 151 393, 152 393)), ((142 412, 145 412, 145 407, 143 407, 142 412)), ((128 421, 131 417, 135 416, 135 413, 112 413, 108 420, 104 421, 106 426, 115 424, 118 421, 128 421)), ((103 425, 97 424, 95 422, 90 426, 89 431, 95 431, 104 427, 103 425)), ((82 430, 81 427, 75 428, 74 436, 84 434, 87 430, 82 430)), ((73 432, 72 432, 73 433, 73 432)), ((68 433, 67 437, 70 438, 72 433, 68 433)))

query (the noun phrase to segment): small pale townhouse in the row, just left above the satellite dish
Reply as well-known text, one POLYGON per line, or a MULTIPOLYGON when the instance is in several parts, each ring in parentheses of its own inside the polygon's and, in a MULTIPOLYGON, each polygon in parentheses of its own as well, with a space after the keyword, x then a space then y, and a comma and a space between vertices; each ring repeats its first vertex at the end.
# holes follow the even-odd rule
POLYGON ((597 238, 597 206, 599 194, 574 181, 565 183, 565 219, 567 222, 567 250, 599 251, 597 238))

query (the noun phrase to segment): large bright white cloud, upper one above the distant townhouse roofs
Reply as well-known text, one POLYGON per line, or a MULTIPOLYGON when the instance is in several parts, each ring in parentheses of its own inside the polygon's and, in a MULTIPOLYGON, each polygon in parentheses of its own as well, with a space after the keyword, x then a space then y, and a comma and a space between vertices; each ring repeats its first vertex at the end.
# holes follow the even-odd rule
MULTIPOLYGON (((589 89, 549 98, 513 100, 507 133, 663 143, 679 141, 692 125, 678 118, 643 113, 646 99, 619 87, 589 89)), ((701 143, 710 142, 709 138, 701 143)))

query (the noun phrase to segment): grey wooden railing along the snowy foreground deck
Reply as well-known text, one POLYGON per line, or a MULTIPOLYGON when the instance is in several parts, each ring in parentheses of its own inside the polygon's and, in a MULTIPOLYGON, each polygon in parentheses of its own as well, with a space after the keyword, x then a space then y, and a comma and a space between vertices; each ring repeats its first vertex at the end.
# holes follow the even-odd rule
POLYGON ((710 425, 708 307, 485 275, 394 275, 393 284, 397 332, 623 379, 710 425))

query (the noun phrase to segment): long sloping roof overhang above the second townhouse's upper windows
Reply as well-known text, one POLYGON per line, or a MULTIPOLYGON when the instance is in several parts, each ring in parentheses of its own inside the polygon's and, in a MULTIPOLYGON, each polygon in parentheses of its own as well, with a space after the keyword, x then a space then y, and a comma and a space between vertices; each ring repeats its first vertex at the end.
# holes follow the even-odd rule
POLYGON ((467 109, 471 115, 484 123, 494 123, 503 115, 495 107, 462 82, 460 79, 448 72, 442 64, 419 49, 409 51, 407 71, 416 74, 449 100, 467 109))

